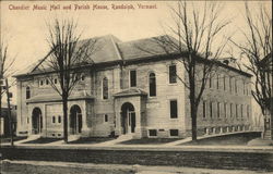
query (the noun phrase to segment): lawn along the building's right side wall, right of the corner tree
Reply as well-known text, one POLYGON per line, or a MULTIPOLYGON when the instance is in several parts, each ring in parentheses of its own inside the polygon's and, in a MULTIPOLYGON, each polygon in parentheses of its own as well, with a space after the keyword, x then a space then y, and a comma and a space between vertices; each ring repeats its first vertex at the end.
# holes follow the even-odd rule
POLYGON ((224 135, 218 137, 199 139, 197 141, 190 141, 181 145, 246 146, 248 141, 258 137, 261 137, 261 133, 241 133, 241 134, 224 135))

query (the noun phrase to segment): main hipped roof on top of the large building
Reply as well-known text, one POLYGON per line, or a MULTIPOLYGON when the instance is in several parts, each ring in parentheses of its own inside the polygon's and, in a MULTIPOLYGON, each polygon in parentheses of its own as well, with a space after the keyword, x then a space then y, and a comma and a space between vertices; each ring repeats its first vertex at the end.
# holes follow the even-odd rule
MULTIPOLYGON (((86 65, 104 64, 110 62, 118 63, 120 61, 129 62, 132 60, 143 61, 143 60, 149 60, 150 58, 158 58, 158 60, 162 60, 166 59, 165 55, 167 54, 169 55, 178 54, 178 52, 174 50, 174 47, 171 47, 171 44, 174 42, 176 44, 177 40, 168 35, 124 41, 124 42, 122 42, 112 35, 106 35, 102 37, 94 37, 90 39, 80 40, 79 47, 80 45, 84 45, 93 40, 96 40, 96 44, 94 46, 95 51, 91 53, 90 60, 86 62, 86 65)), ((183 50, 187 52, 185 46, 182 46, 182 51, 183 50)), ((41 65, 49 55, 50 52, 45 58, 29 65, 25 71, 16 74, 15 77, 43 73, 39 70, 39 65, 41 65)), ((223 66, 230 69, 232 71, 241 73, 244 75, 251 76, 250 74, 234 69, 232 66, 228 65, 223 65, 223 66)))

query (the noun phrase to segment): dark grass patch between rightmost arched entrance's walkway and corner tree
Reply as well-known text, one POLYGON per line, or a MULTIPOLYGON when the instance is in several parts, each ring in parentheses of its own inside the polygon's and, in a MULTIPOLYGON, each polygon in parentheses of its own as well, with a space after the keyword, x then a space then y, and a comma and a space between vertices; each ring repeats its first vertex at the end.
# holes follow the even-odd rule
POLYGON ((141 138, 119 142, 121 145, 162 145, 180 140, 181 138, 141 138))

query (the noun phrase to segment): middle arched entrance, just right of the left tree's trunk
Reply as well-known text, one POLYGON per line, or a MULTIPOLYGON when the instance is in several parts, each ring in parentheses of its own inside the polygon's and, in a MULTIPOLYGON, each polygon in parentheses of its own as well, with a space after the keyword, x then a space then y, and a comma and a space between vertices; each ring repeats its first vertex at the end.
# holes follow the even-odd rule
POLYGON ((79 133, 82 133, 82 111, 79 105, 73 105, 70 109, 70 134, 79 133))

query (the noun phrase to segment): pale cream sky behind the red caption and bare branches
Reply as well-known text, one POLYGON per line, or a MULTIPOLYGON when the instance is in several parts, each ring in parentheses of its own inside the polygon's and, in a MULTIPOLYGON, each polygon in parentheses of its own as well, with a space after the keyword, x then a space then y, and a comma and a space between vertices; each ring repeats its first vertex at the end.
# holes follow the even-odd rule
MULTIPOLYGON (((198 7, 202 2, 191 1, 190 3, 198 7)), ((244 3, 244 1, 221 1, 222 17, 228 17, 232 21, 225 34, 233 34, 236 41, 244 38, 240 33, 245 27, 244 3)), ((253 10, 257 10, 259 3, 265 4, 271 14, 271 1, 249 1, 253 10)), ((56 16, 76 18, 79 28, 83 32, 83 39, 111 34, 122 41, 128 41, 164 34, 162 26, 171 21, 169 7, 175 4, 175 1, 0 1, 1 36, 4 36, 9 42, 10 57, 16 58, 14 70, 20 72, 48 52, 45 23, 56 16), (112 5, 122 4, 133 5, 134 10, 112 9, 112 5), (139 4, 152 5, 156 9, 140 9, 139 4), (35 5, 41 9, 44 7, 46 10, 34 10, 35 5), (52 5, 56 8, 60 5, 60 10, 50 10, 52 5), (63 10, 63 7, 70 5, 71 10, 63 10), (108 10, 102 9, 105 5, 108 10), (82 7, 82 9, 74 10, 75 7, 82 7), (100 9, 93 9, 93 7, 100 9)))

